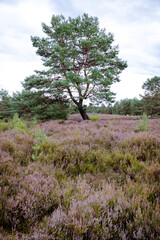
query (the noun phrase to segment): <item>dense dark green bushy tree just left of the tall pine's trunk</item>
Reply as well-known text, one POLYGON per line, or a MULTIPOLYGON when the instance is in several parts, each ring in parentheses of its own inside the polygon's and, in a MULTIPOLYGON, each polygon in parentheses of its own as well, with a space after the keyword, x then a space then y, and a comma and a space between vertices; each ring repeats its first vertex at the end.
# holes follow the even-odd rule
POLYGON ((23 90, 12 97, 12 112, 20 116, 37 120, 67 119, 69 109, 65 98, 46 96, 42 91, 23 90))

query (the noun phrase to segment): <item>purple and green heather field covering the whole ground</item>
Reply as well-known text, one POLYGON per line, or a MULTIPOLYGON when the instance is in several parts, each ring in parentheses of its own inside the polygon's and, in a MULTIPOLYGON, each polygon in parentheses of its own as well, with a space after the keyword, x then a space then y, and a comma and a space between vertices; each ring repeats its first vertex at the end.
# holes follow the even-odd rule
POLYGON ((160 239, 160 119, 0 122, 0 239, 160 239))

